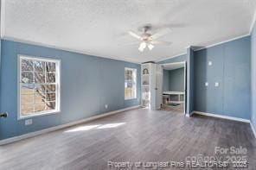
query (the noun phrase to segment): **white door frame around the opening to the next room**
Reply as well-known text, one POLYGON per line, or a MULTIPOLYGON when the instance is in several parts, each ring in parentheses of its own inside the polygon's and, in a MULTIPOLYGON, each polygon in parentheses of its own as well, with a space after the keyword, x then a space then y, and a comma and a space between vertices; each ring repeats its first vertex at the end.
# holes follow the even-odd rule
MULTIPOLYGON (((160 64, 161 66, 171 66, 171 65, 177 65, 177 64, 182 64, 184 68, 184 104, 183 104, 183 113, 186 115, 186 105, 187 105, 187 61, 183 60, 180 62, 171 62, 171 63, 163 63, 160 64)), ((163 79, 162 79, 163 81, 163 79)), ((163 82, 162 82, 163 85, 163 82)), ((162 86, 162 93, 163 93, 163 86, 162 86)))

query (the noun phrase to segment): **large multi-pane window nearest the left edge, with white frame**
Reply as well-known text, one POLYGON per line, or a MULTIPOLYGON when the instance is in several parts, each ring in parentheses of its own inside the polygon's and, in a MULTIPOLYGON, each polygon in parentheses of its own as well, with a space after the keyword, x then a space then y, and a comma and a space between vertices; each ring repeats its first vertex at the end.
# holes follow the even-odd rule
POLYGON ((60 111, 60 60, 19 56, 19 117, 60 111))

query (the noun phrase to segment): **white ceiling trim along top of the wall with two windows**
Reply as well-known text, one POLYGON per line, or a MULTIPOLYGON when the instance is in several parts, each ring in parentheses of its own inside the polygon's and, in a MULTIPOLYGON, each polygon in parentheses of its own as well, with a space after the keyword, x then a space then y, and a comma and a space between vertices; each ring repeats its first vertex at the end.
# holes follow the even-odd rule
POLYGON ((45 44, 45 43, 35 42, 35 41, 26 41, 26 40, 21 40, 21 39, 10 37, 10 36, 3 36, 2 40, 15 41, 15 42, 20 42, 20 43, 25 43, 25 44, 40 46, 40 47, 49 47, 49 48, 54 48, 54 49, 63 50, 63 51, 67 51, 67 52, 72 52, 72 53, 76 53, 76 54, 91 55, 93 57, 99 57, 99 58, 103 58, 103 59, 121 60, 121 61, 130 62, 130 63, 141 64, 141 62, 134 61, 134 60, 119 59, 116 56, 104 56, 103 57, 103 56, 99 56, 99 54, 94 54, 94 53, 90 53, 90 52, 83 51, 83 50, 76 50, 76 49, 71 49, 71 48, 68 48, 68 47, 58 47, 58 46, 48 45, 48 44, 45 44))

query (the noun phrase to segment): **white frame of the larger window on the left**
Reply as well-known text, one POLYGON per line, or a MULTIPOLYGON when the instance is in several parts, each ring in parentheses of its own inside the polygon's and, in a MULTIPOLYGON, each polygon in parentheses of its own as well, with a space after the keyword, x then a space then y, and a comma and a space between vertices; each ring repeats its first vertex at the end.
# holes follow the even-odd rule
POLYGON ((44 57, 37 57, 37 56, 28 56, 28 55, 22 55, 18 54, 18 72, 17 72, 17 98, 18 98, 18 120, 20 119, 26 119, 30 117, 35 116, 45 116, 49 114, 55 114, 61 112, 61 60, 56 59, 50 59, 50 58, 44 58, 44 57), (22 76, 22 60, 38 60, 38 61, 45 61, 45 62, 54 62, 55 63, 55 110, 43 110, 43 111, 37 111, 34 114, 31 113, 29 116, 22 116, 22 104, 21 104, 21 88, 22 88, 22 82, 21 82, 21 76, 22 76))

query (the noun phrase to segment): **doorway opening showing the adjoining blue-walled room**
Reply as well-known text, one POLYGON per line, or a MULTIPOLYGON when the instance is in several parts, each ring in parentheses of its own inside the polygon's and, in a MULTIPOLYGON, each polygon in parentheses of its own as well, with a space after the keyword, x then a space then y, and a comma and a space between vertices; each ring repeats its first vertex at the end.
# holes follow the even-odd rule
POLYGON ((163 64, 162 109, 185 114, 186 62, 163 64))

